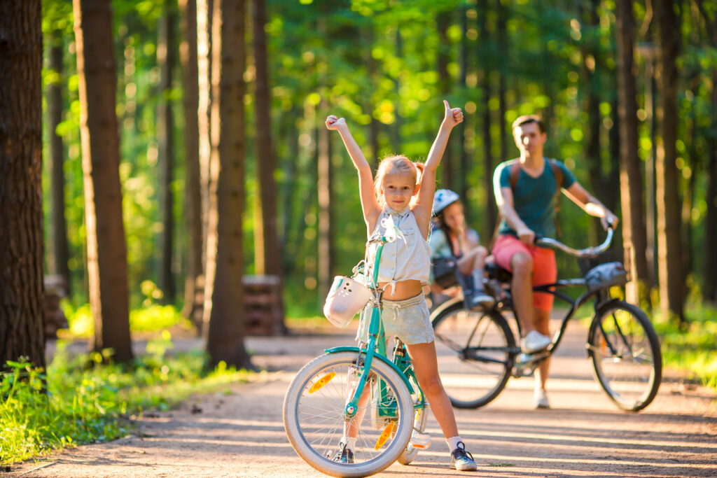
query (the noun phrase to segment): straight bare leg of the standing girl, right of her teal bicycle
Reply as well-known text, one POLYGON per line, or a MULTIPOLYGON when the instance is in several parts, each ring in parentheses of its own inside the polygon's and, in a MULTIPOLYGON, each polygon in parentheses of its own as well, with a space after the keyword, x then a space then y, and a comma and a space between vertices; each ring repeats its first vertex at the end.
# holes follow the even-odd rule
POLYGON ((406 345, 408 354, 413 363, 414 372, 418 379, 418 385, 428 399, 433 416, 441 427, 445 437, 451 438, 458 435, 458 426, 455 423, 455 415, 450 404, 441 379, 438 376, 438 360, 436 357, 436 345, 431 343, 416 343, 406 345))

